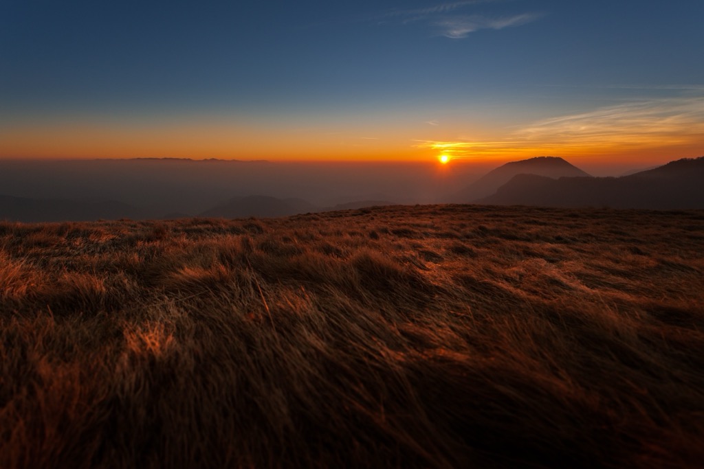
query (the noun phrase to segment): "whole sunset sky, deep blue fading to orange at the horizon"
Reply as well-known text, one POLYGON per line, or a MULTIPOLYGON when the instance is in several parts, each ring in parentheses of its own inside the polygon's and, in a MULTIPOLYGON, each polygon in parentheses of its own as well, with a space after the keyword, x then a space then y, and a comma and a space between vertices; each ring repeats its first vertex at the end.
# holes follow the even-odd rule
POLYGON ((704 1, 0 0, 0 158, 704 155, 704 1))

